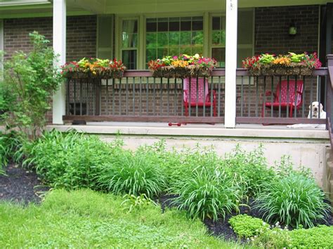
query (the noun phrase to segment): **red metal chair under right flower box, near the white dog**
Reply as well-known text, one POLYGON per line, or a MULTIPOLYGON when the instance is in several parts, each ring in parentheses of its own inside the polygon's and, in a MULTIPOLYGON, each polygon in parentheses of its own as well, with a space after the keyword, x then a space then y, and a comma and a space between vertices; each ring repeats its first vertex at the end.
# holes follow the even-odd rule
MULTIPOLYGON (((273 102, 264 102, 263 109, 261 111, 261 116, 263 117, 263 113, 265 111, 265 107, 279 109, 281 105, 282 110, 287 110, 289 108, 289 117, 293 116, 293 109, 295 108, 295 81, 289 80, 289 94, 288 92, 288 81, 284 80, 281 83, 278 83, 276 87, 276 92, 273 93, 274 100, 273 102), (280 89, 281 87, 281 89, 280 89), (288 97, 289 96, 289 97, 288 97)), ((266 100, 270 100, 272 96, 272 92, 267 91, 266 100)), ((298 110, 301 107, 303 96, 303 81, 299 80, 296 82, 296 109, 298 110)))

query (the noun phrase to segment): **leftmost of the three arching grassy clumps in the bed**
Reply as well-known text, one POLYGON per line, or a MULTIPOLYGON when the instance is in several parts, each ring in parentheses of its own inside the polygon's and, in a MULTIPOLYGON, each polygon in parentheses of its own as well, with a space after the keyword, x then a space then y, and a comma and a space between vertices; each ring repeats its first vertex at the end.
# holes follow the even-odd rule
POLYGON ((96 177, 98 187, 114 194, 157 196, 166 188, 166 182, 155 159, 154 153, 138 150, 133 154, 119 149, 110 163, 100 167, 96 177))

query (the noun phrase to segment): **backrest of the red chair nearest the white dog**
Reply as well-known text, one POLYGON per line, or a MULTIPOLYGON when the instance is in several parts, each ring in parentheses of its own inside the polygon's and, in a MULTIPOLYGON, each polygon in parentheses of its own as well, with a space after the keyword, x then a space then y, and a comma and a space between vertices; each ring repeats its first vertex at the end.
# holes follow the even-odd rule
POLYGON ((296 85, 296 106, 301 105, 302 101, 302 95, 303 95, 303 81, 299 80, 296 82, 294 80, 283 80, 281 83, 278 83, 278 86, 276 87, 276 97, 275 102, 280 102, 281 97, 281 103, 288 103, 289 105, 295 105, 295 85, 296 85), (281 86, 281 89, 280 89, 281 86), (288 94, 289 90, 289 94, 288 94), (281 92, 281 96, 280 96, 281 92))

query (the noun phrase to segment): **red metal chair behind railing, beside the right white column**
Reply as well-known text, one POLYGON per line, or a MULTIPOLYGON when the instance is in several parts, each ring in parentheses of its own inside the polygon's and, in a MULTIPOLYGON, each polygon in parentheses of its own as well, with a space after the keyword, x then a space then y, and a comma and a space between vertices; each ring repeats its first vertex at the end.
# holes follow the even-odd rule
POLYGON ((191 78, 184 79, 183 105, 185 116, 188 116, 188 107, 211 107, 213 105, 213 116, 216 114, 216 92, 209 90, 208 79, 191 78), (191 83, 190 83, 191 82, 191 83), (191 87, 190 87, 191 86, 191 87), (211 100, 211 95, 213 99, 211 100))

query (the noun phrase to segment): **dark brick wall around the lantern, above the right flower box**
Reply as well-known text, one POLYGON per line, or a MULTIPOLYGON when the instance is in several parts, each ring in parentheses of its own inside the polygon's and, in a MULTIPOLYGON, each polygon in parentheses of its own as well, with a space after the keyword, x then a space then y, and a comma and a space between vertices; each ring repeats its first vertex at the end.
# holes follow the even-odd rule
POLYGON ((318 51, 319 6, 256 8, 255 54, 318 51), (297 34, 289 35, 296 22, 297 34))

